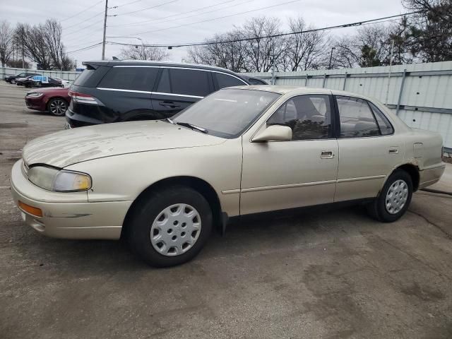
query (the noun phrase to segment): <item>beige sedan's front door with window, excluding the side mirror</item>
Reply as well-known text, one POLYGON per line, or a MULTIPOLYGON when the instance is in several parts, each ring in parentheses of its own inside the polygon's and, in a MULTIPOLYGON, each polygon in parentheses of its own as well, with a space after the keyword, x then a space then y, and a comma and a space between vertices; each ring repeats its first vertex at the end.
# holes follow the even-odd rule
POLYGON ((338 173, 330 95, 297 95, 266 125, 290 126, 292 141, 243 140, 240 213, 332 203, 338 173))

